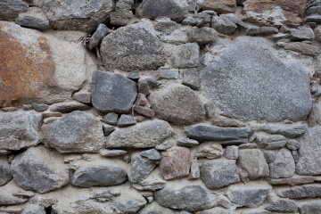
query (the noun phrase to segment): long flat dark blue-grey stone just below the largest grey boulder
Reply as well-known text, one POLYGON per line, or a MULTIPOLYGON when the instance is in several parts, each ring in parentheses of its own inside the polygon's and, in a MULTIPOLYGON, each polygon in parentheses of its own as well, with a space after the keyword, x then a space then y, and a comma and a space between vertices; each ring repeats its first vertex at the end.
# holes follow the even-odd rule
POLYGON ((219 144, 246 144, 251 130, 247 128, 218 128, 198 125, 185 128, 185 134, 199 142, 215 140, 219 144))

